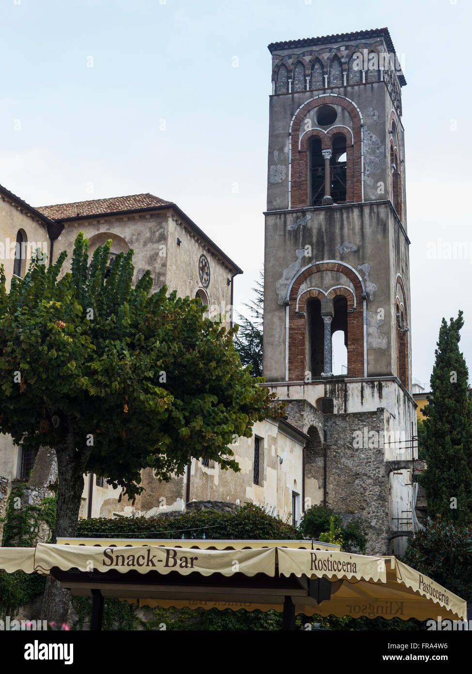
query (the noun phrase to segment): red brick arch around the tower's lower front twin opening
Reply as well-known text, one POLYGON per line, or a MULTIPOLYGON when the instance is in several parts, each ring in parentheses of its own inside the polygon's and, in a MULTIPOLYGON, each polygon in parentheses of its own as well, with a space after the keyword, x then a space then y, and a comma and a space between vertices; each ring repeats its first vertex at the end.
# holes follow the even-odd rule
MULTIPOLYGON (((302 381, 304 379, 306 371, 306 315, 304 309, 306 308, 306 300, 309 297, 316 297, 316 295, 309 294, 310 289, 299 297, 300 286, 309 276, 325 271, 341 272, 353 285, 356 306, 352 301, 352 306, 349 307, 349 299, 347 306, 347 374, 349 377, 364 377, 366 375, 364 366, 366 355, 366 344, 364 343, 364 282, 358 272, 349 265, 337 260, 326 260, 315 262, 302 269, 292 281, 288 290, 286 301, 288 305, 288 330, 285 335, 285 339, 288 340, 288 381, 302 381), (301 305, 300 299, 303 295, 306 295, 306 297, 303 305, 301 305)), ((319 290, 319 288, 312 288, 312 290, 319 290)), ((332 290, 335 291, 336 295, 343 295, 339 287, 331 288, 329 292, 331 293, 332 290)), ((322 296, 319 296, 318 299, 322 299, 322 296)))

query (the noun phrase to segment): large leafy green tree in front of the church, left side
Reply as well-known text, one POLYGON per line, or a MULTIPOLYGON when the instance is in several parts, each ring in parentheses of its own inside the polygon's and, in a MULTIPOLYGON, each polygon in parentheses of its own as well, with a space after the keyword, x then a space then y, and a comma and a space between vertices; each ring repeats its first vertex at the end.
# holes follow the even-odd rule
POLYGON ((133 251, 110 268, 110 243, 89 267, 79 233, 71 272, 61 276, 65 251, 48 267, 33 259, 9 293, 1 270, 0 432, 55 450, 56 537, 75 535, 84 473, 132 497, 142 468, 164 481, 191 457, 239 470, 234 437, 250 437, 255 421, 279 411, 242 367, 235 329, 204 319, 189 297, 167 296, 166 286, 151 294, 149 270, 132 287, 133 251))

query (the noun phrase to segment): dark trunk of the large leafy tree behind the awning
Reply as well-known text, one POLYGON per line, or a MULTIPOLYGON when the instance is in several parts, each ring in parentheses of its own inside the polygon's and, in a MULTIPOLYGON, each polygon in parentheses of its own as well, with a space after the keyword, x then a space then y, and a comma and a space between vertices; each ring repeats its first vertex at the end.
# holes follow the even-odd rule
MULTIPOLYGON (((83 491, 83 456, 75 449, 72 433, 67 443, 55 448, 57 456, 57 517, 53 534, 53 543, 58 538, 73 537, 77 533, 77 522, 81 495, 83 491)), ((41 618, 59 625, 67 622, 67 613, 71 603, 69 590, 61 588, 61 584, 51 576, 46 581, 41 607, 41 618)))

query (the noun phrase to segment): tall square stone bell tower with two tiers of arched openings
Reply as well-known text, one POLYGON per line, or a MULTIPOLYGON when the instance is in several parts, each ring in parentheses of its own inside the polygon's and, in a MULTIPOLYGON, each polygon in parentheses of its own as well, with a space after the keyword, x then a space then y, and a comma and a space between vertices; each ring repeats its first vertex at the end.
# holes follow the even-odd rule
POLYGON ((386 28, 269 51, 264 375, 313 437, 304 503, 362 514, 371 551, 399 552, 415 526, 405 78, 386 28))

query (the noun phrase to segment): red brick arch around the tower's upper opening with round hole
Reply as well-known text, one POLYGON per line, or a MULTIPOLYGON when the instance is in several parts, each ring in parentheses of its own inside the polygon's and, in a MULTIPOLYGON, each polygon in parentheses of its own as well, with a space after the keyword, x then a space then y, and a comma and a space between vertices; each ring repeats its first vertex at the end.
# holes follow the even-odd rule
POLYGON ((330 104, 338 105, 347 110, 352 119, 353 146, 349 148, 351 150, 351 176, 350 179, 347 179, 347 182, 351 183, 351 187, 346 195, 346 200, 362 202, 362 120, 360 112, 356 105, 345 96, 320 94, 310 98, 300 106, 290 124, 292 179, 290 182, 289 208, 304 208, 304 206, 310 205, 308 204, 308 151, 306 145, 303 148, 300 146, 300 150, 298 149, 300 125, 310 110, 330 104))

